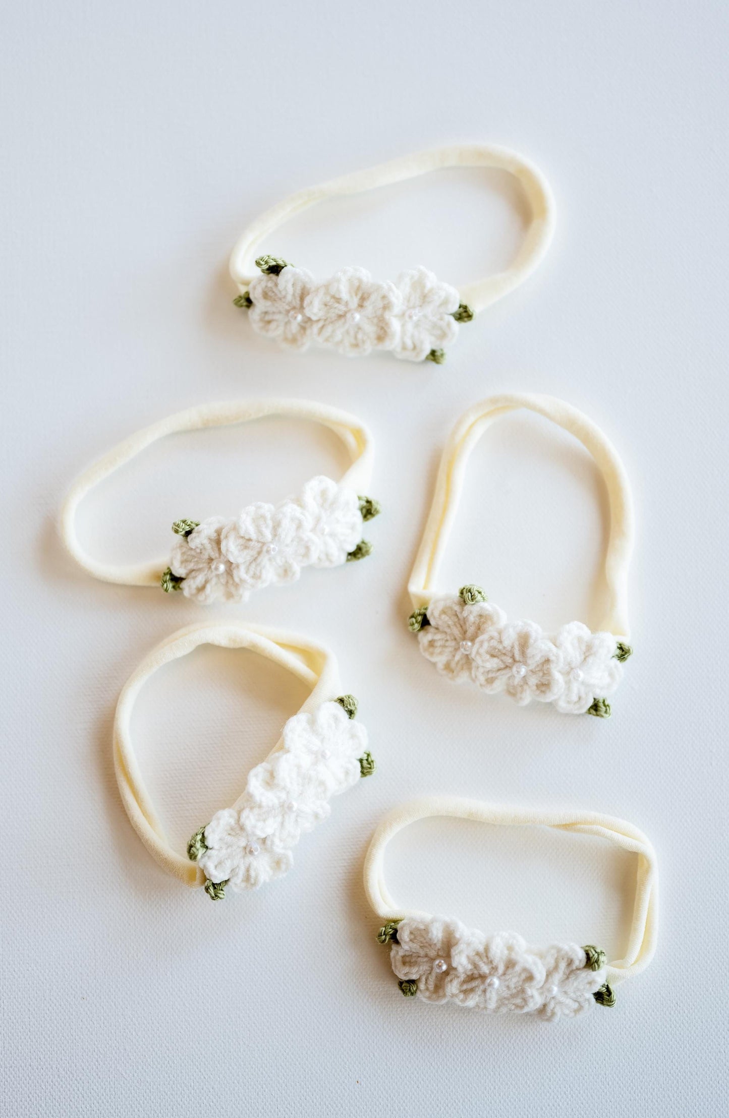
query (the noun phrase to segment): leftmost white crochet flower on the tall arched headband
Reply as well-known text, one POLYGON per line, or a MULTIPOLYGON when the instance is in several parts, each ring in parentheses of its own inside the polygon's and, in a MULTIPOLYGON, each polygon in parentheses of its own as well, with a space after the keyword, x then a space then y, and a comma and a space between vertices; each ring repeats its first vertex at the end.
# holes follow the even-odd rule
POLYGON ((436 598, 428 606, 427 617, 430 624, 418 633, 420 651, 457 683, 472 679, 476 642, 506 619, 499 606, 489 601, 464 605, 460 597, 436 598))

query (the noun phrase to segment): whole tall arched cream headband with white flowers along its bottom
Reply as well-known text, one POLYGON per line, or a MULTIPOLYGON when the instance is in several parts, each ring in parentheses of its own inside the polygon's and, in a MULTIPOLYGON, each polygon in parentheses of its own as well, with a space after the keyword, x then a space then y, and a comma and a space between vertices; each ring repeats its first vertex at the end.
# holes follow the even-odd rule
POLYGON ((633 651, 626 643, 632 550, 629 483, 617 452, 599 427, 551 396, 492 396, 458 419, 443 452, 430 513, 408 585, 415 606, 408 625, 417 633, 423 655, 454 682, 472 680, 487 694, 503 691, 519 705, 536 699, 553 702, 565 713, 609 718, 607 697, 617 688, 623 663, 633 651), (486 601, 480 586, 462 586, 457 595, 435 589, 468 455, 494 420, 518 408, 537 411, 571 432, 593 455, 605 479, 610 508, 605 556, 609 604, 595 633, 581 622, 570 622, 556 636, 547 637, 534 622, 508 620, 499 606, 486 601))

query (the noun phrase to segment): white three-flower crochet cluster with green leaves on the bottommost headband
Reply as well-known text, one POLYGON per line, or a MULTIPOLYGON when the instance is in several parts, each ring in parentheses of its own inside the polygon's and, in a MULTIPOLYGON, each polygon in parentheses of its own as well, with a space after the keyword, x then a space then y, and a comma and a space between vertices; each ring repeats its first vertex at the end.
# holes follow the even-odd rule
POLYGON ((614 1004, 605 956, 595 947, 528 947, 514 932, 484 936, 458 920, 405 919, 378 935, 404 994, 457 1002, 486 1013, 574 1017, 597 1001, 614 1004))

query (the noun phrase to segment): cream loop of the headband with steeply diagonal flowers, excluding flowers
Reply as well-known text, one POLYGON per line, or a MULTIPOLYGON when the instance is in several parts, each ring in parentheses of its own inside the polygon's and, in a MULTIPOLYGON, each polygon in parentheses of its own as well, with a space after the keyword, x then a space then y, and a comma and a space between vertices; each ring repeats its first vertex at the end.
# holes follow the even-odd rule
MULTIPOLYGON (((300 710, 315 710, 322 702, 339 693, 337 661, 324 646, 300 636, 264 628, 258 625, 216 624, 190 625, 163 641, 140 664, 124 685, 116 705, 114 720, 114 768, 122 802, 132 826, 154 860, 186 885, 206 882, 202 870, 184 854, 174 851, 164 834, 162 824, 150 799, 134 755, 131 737, 131 717, 136 698, 144 683, 164 664, 186 656, 201 644, 220 648, 249 648, 280 664, 311 688, 311 694, 300 710)), ((280 739, 268 754, 281 749, 280 739)), ((234 804, 234 808, 243 800, 234 804)))

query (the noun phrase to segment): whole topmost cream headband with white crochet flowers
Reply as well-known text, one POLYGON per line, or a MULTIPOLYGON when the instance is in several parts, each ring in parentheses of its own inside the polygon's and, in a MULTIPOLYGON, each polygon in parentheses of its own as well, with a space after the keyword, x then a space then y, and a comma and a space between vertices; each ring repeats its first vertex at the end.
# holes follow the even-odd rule
POLYGON ((259 334, 292 349, 319 342, 348 357, 389 350, 406 361, 445 360, 444 345, 455 341, 458 323, 470 322, 506 295, 534 271, 555 227, 555 203, 541 172, 504 148, 438 148, 358 171, 292 195, 267 210, 239 238, 230 256, 230 275, 240 294, 235 304, 247 309, 259 334), (515 259, 505 272, 458 290, 425 267, 403 272, 397 283, 372 280, 365 268, 344 267, 328 280, 277 256, 257 255, 262 243, 284 221, 316 202, 356 195, 375 187, 413 179, 445 167, 489 167, 519 179, 531 208, 531 224, 515 259), (254 267, 261 271, 256 275, 254 267))

